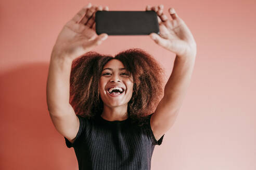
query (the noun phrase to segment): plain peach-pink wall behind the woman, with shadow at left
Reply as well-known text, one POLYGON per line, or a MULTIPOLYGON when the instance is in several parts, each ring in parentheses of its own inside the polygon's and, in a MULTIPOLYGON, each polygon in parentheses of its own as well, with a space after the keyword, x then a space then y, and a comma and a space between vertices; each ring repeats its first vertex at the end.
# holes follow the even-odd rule
MULTIPOLYGON (((50 53, 62 26, 89 1, 2 1, 0 169, 78 169, 46 105, 50 53)), ((92 1, 91 1, 92 2, 92 1)), ((151 169, 255 169, 256 1, 94 1, 110 10, 174 7, 197 46, 180 114, 151 169)), ((142 48, 170 76, 175 54, 148 36, 110 36, 95 51, 142 48)))

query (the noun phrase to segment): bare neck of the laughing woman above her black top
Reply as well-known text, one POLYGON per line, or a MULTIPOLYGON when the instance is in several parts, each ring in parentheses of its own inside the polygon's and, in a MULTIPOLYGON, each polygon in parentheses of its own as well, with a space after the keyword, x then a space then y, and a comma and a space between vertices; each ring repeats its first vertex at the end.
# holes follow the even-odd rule
POLYGON ((107 105, 104 105, 101 117, 108 121, 126 120, 128 118, 127 105, 118 107, 109 107, 107 105))

